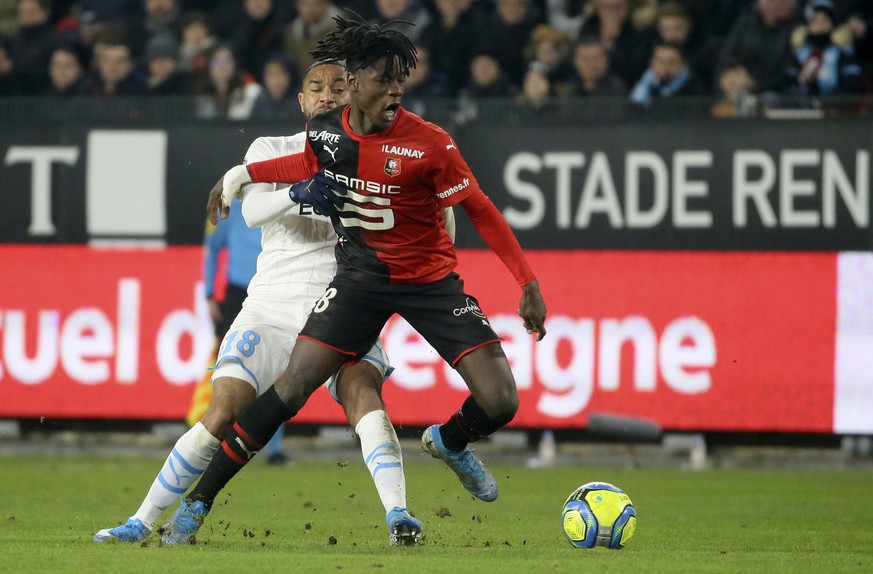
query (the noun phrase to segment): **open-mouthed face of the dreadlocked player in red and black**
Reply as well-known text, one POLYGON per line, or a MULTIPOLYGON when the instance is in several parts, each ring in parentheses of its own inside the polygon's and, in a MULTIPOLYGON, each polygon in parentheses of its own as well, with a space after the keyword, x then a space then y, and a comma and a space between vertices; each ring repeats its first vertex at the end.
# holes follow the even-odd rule
POLYGON ((356 129, 371 134, 387 129, 397 117, 400 100, 406 87, 406 74, 396 71, 385 73, 388 59, 382 58, 369 68, 358 70, 349 77, 352 105, 361 125, 356 129))

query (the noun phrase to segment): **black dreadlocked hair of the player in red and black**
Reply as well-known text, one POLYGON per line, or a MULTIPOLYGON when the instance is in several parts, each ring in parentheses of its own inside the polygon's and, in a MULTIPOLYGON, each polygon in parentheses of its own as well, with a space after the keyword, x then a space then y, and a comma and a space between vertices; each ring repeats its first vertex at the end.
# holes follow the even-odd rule
POLYGON ((309 52, 316 60, 342 60, 346 69, 357 72, 369 68, 378 60, 387 58, 385 75, 408 76, 418 62, 415 46, 406 34, 389 29, 393 24, 409 24, 405 20, 391 20, 381 25, 366 22, 360 15, 346 9, 351 17, 334 16, 336 28, 318 41, 309 52))

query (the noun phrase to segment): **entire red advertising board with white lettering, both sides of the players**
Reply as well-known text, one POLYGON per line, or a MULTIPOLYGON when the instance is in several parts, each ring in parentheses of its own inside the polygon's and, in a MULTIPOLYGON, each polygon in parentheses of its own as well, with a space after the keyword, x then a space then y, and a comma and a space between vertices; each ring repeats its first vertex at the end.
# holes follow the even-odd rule
MULTIPOLYGON (((592 412, 667 429, 833 432, 836 254, 529 252, 549 309, 535 341, 489 251, 459 272, 504 338, 520 427, 592 412)), ((211 325, 201 251, 3 246, 0 418, 182 419, 211 325)), ((397 424, 446 419, 467 392, 400 319, 383 332, 397 424)), ((323 390, 301 422, 343 423, 323 390)))

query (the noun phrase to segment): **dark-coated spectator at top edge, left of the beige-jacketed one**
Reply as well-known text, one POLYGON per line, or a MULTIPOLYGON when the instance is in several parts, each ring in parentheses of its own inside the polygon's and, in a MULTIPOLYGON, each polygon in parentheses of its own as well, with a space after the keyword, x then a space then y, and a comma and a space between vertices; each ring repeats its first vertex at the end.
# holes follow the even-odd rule
POLYGON ((273 0, 244 0, 246 16, 230 38, 237 65, 261 80, 267 54, 282 49, 283 23, 273 0))

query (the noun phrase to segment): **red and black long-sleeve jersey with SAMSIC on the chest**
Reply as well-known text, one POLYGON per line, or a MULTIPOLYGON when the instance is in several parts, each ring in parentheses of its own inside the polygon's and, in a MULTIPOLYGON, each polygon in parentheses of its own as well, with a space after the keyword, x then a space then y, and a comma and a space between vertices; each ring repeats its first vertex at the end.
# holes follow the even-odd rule
POLYGON ((421 284, 456 266, 441 208, 461 204, 483 239, 519 285, 534 280, 521 246, 482 192, 455 142, 440 127, 403 110, 384 132, 362 136, 348 123, 348 107, 307 125, 302 154, 250 164, 253 181, 293 183, 319 169, 348 188, 334 216, 338 278, 421 284))

